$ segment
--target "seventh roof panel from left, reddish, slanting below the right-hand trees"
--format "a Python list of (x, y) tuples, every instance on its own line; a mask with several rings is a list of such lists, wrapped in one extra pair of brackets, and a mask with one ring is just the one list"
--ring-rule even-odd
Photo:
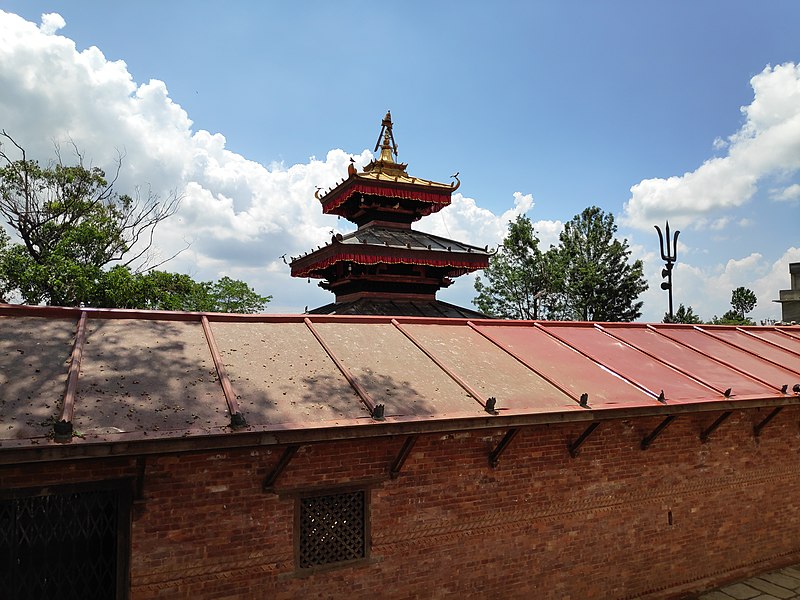
[(595, 327), (547, 325), (545, 329), (566, 340), (610, 371), (648, 389), (652, 394), (658, 395), (664, 390), (667, 401), (694, 400), (718, 395), (714, 390)]

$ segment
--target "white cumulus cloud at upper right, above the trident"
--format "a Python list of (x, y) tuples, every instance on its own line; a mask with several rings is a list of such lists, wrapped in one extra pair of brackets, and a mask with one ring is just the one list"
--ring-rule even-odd
[(744, 124), (727, 140), (714, 141), (727, 153), (683, 175), (634, 185), (624, 224), (649, 229), (669, 218), (679, 227), (713, 226), (719, 221), (711, 215), (747, 203), (760, 182), (800, 171), (800, 65), (768, 66), (750, 84), (754, 97), (741, 108)]

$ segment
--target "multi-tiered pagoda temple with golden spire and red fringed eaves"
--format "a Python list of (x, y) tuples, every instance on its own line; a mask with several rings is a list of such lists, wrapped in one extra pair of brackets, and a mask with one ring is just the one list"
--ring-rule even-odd
[(398, 163), (389, 112), (375, 145), (380, 157), (358, 172), (350, 159), (348, 176), (315, 196), (325, 214), (358, 226), (336, 234), (325, 246), (293, 258), (293, 277), (321, 279), (320, 287), (336, 301), (309, 311), (315, 314), (373, 314), (428, 317), (484, 317), (481, 313), (436, 299), (453, 278), (489, 264), (488, 248), (415, 231), (411, 224), (450, 204), (458, 189), (451, 184), (410, 176)]

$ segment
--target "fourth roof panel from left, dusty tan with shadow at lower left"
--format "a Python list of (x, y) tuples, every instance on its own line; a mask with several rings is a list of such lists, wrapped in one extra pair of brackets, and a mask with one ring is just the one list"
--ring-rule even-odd
[(481, 405), (389, 323), (315, 323), (386, 416), (479, 414)]

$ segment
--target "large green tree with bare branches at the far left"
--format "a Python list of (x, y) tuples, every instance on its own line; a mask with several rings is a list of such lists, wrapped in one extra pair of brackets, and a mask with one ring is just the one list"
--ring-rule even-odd
[(89, 303), (104, 268), (146, 261), (155, 227), (178, 208), (175, 194), (163, 202), (119, 194), (121, 157), (108, 180), (103, 170), (84, 167), (77, 148), (76, 165), (65, 165), (57, 148), (56, 159), (41, 166), (5, 131), (0, 137), (21, 157), (0, 145), (0, 216), (20, 239), (5, 245), (0, 279), (29, 304)]

